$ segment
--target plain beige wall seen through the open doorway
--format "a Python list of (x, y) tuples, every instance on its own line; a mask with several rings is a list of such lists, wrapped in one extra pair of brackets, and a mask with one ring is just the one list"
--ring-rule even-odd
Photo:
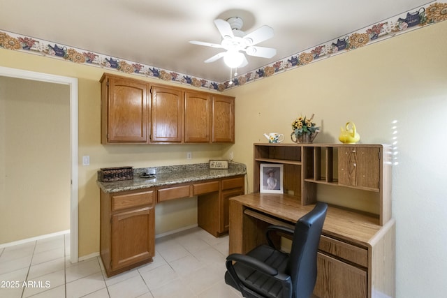
[(10, 77), (0, 87), (0, 244), (69, 230), (68, 87)]

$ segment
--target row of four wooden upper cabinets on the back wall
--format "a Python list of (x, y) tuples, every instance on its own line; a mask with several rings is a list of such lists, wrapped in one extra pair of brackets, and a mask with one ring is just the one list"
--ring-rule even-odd
[(104, 73), (101, 144), (234, 143), (235, 98)]

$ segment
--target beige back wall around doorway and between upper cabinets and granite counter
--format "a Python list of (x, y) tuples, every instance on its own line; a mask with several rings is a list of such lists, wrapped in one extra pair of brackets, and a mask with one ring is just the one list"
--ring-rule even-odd
[[(101, 89), (99, 79), (102, 68), (83, 66), (56, 59), (0, 49), (0, 66), (32, 70), (41, 73), (78, 78), (78, 129), (79, 129), (79, 256), (99, 251), (99, 190), (96, 172), (101, 167), (131, 165), (152, 167), (185, 163), (206, 163), (210, 158), (221, 158), (228, 145), (101, 145)], [(140, 77), (142, 80), (148, 80)], [(149, 80), (150, 81), (150, 80)], [(159, 83), (159, 80), (152, 80)], [(177, 84), (175, 84), (177, 86)], [(17, 116), (17, 117), (20, 117)], [(58, 142), (52, 146), (59, 146)], [(186, 160), (191, 151), (193, 159)], [(90, 165), (82, 165), (82, 156), (90, 156)], [(197, 223), (197, 200), (189, 198), (159, 204), (156, 207), (156, 234), (176, 230)], [(20, 209), (10, 208), (11, 214)], [(68, 214), (67, 220), (69, 218)], [(27, 223), (23, 223), (27, 227)], [(1, 230), (1, 228), (0, 228)], [(36, 231), (32, 236), (45, 234)]]

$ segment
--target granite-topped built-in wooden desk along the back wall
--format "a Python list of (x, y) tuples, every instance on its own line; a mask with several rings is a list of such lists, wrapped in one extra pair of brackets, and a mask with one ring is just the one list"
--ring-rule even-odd
[[(156, 204), (197, 196), (198, 225), (214, 236), (228, 232), (228, 201), (244, 194), (245, 165), (228, 170), (207, 164), (135, 169), (126, 181), (98, 181), (101, 195), (101, 259), (108, 276), (151, 262)], [(140, 178), (155, 173), (155, 179)]]

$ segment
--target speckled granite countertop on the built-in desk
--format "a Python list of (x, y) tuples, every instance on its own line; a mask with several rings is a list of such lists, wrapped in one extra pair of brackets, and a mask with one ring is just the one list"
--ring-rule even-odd
[[(155, 174), (155, 178), (141, 178), (140, 174), (142, 173)], [(228, 170), (210, 170), (208, 163), (196, 163), (192, 165), (135, 168), (133, 169), (132, 180), (102, 182), (98, 179), (96, 184), (105, 193), (117, 193), (119, 191), (133, 191), (141, 188), (218, 179), (242, 174), (247, 174), (247, 167), (242, 163), (229, 162)]]

